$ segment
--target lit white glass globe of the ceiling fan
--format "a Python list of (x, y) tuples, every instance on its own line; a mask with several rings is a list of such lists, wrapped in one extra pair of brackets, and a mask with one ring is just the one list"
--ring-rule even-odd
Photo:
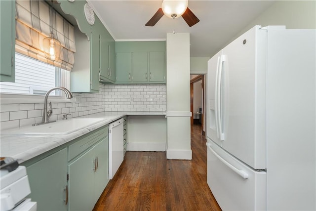
[(188, 0), (163, 0), (161, 8), (169, 18), (180, 17), (188, 7)]

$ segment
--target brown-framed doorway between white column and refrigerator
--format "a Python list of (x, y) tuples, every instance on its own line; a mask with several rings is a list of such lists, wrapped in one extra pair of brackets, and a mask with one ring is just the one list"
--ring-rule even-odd
[(190, 99), (191, 99), (191, 127), (193, 125), (202, 126), (202, 135), (205, 136), (204, 127), (204, 75), (191, 75), (190, 80)]

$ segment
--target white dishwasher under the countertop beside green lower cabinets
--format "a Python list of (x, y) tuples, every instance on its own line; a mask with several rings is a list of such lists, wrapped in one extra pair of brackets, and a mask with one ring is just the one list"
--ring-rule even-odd
[(123, 122), (109, 124), (109, 179), (112, 179), (124, 159)]

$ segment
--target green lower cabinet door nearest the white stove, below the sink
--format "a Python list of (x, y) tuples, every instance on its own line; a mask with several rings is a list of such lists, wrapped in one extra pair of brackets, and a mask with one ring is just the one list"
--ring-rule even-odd
[(67, 148), (27, 167), (29, 197), (39, 211), (66, 211)]

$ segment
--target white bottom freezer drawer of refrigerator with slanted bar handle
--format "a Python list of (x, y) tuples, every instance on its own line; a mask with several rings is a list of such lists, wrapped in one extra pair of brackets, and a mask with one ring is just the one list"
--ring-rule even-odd
[(266, 172), (255, 171), (214, 142), (207, 145), (207, 184), (223, 211), (266, 210)]

